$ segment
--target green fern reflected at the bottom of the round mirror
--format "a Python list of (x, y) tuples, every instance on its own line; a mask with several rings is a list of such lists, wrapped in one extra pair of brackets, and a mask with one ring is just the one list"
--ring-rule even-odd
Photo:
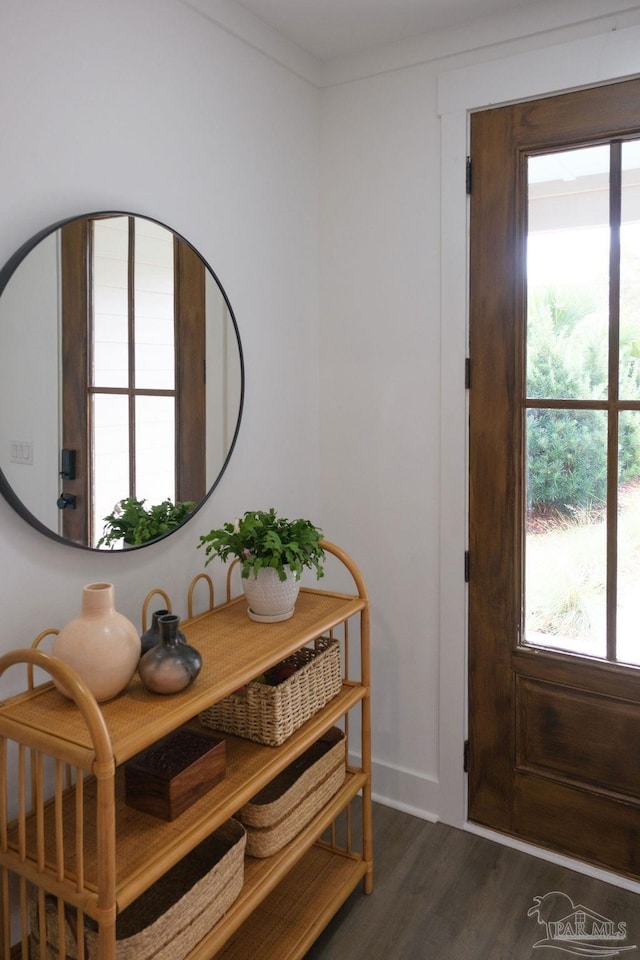
[(113, 512), (104, 518), (98, 546), (113, 549), (113, 545), (122, 540), (125, 546), (133, 547), (156, 540), (179, 527), (196, 506), (193, 500), (181, 503), (163, 500), (151, 507), (145, 507), (146, 502), (135, 497), (119, 500)]

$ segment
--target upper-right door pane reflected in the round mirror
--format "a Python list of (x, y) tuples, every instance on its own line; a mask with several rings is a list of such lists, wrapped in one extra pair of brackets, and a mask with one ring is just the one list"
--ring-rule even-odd
[(173, 390), (173, 234), (137, 219), (135, 250), (136, 388)]

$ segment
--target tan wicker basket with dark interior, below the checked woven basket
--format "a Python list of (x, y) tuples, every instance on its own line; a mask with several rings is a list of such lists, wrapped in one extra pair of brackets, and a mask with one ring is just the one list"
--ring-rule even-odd
[(270, 857), (292, 840), (336, 793), (346, 774), (345, 736), (332, 727), (242, 807), (246, 852)]

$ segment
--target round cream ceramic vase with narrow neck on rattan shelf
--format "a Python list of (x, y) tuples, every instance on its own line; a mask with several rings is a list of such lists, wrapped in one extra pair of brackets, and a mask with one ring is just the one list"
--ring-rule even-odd
[(116, 610), (112, 583), (83, 587), (81, 612), (56, 636), (52, 652), (73, 667), (96, 700), (109, 700), (124, 690), (140, 660), (140, 636)]

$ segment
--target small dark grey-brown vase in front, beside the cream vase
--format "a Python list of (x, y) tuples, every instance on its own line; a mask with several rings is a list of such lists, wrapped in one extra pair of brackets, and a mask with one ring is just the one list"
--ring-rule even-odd
[(153, 693), (179, 693), (195, 680), (202, 667), (198, 651), (178, 639), (180, 617), (165, 613), (158, 617), (160, 642), (140, 658), (138, 675)]

